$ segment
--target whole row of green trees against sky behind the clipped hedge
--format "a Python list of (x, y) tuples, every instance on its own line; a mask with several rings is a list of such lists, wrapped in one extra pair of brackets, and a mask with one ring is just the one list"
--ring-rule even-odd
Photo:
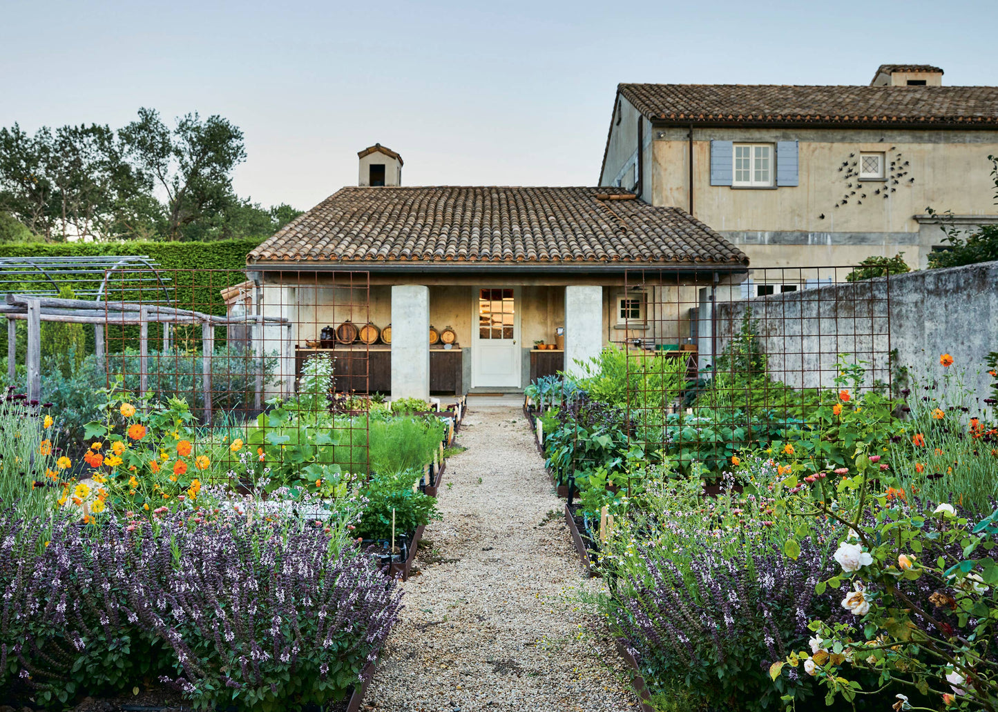
[(146, 108), (117, 131), (0, 128), (0, 238), (24, 234), (16, 223), (47, 241), (265, 237), (300, 211), (237, 195), (246, 158), (239, 127), (197, 113), (173, 128)]

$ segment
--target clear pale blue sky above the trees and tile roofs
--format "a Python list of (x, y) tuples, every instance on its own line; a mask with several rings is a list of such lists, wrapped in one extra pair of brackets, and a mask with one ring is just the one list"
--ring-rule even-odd
[(592, 185), (618, 83), (864, 85), (918, 63), (996, 85), (996, 26), (994, 0), (4, 0), (0, 126), (218, 114), (264, 206), (356, 184), (375, 142), (408, 185)]

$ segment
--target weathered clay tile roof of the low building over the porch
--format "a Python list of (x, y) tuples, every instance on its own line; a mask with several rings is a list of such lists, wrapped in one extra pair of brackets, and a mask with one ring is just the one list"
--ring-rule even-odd
[(252, 250), (248, 263), (744, 265), (678, 207), (616, 187), (344, 187)]

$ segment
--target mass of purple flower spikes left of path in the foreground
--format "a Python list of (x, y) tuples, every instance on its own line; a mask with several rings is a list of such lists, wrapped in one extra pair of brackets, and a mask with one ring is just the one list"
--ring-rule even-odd
[(194, 519), (0, 513), (0, 697), (55, 706), (150, 677), (199, 709), (348, 694), (397, 619), (395, 582), (323, 523)]

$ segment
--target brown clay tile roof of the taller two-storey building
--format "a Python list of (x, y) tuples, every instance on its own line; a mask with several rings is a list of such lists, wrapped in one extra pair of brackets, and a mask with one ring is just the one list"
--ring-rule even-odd
[(998, 87), (621, 84), (647, 119), (683, 124), (998, 126)]

